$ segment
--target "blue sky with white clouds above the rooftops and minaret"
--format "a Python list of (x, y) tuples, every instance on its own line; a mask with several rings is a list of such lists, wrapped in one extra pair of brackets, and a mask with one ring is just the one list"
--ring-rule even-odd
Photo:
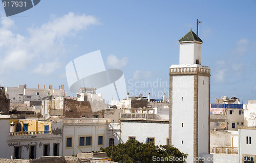
[[(10, 17), (0, 7), (0, 83), (64, 84), (72, 96), (66, 65), (100, 50), (107, 69), (123, 71), (130, 95), (156, 91), (152, 98), (161, 98), (168, 87), (160, 82), (168, 83), (169, 67), (179, 63), (178, 40), (190, 28), (196, 32), (199, 18), (202, 64), (211, 68), (211, 102), (224, 95), (256, 99), (255, 7), (256, 1), (42, 0)], [(143, 87), (146, 82), (159, 85)]]

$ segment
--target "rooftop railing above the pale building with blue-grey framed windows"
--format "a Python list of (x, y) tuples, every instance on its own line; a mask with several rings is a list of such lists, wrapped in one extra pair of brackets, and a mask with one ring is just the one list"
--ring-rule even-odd
[(65, 119), (64, 125), (102, 125), (105, 119)]

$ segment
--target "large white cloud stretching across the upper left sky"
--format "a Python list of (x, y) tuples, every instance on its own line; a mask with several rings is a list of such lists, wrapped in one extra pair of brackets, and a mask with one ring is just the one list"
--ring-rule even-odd
[(34, 62), (38, 64), (31, 72), (50, 74), (59, 68), (60, 60), (55, 60), (52, 63), (47, 61), (49, 58), (63, 56), (65, 37), (74, 36), (75, 32), (85, 30), (89, 25), (99, 24), (99, 22), (93, 16), (75, 15), (70, 12), (62, 17), (55, 17), (41, 26), (28, 28), (27, 36), (15, 34), (10, 30), (14, 26), (14, 21), (9, 17), (2, 17), (1, 24), (0, 50), (2, 56), (0, 60), (2, 60), (2, 70), (0, 73), (24, 70)]

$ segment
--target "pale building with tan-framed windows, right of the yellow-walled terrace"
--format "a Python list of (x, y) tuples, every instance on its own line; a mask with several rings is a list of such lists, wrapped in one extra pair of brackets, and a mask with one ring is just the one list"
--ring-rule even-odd
[[(110, 121), (110, 120), (109, 120)], [(78, 152), (100, 151), (100, 147), (109, 147), (114, 137), (119, 144), (120, 125), (103, 118), (66, 118), (63, 119), (63, 155), (76, 155)]]

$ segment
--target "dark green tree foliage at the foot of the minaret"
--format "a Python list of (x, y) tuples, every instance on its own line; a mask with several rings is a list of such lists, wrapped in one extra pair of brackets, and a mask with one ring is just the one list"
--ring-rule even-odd
[[(100, 148), (102, 152), (106, 152), (111, 157), (112, 147)], [(154, 161), (154, 157), (165, 158), (165, 161)], [(125, 144), (118, 144), (113, 147), (112, 160), (116, 162), (135, 163), (135, 162), (184, 162), (170, 161), (169, 158), (186, 158), (187, 154), (180, 152), (177, 148), (169, 145), (155, 146), (152, 142), (140, 143), (139, 141), (130, 139)]]

